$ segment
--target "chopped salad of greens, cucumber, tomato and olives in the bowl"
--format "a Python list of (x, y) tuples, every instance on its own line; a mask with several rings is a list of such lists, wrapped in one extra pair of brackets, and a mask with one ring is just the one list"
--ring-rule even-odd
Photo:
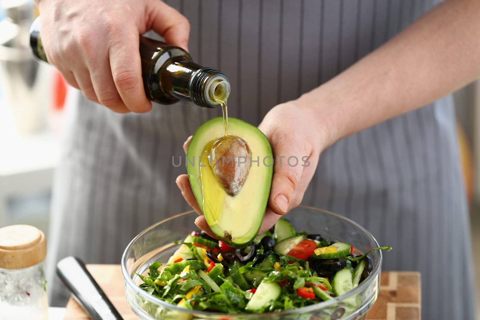
[[(140, 288), (181, 308), (222, 313), (283, 311), (340, 296), (368, 277), (370, 251), (391, 249), (355, 256), (350, 244), (297, 233), (285, 219), (245, 249), (203, 231), (176, 243), (166, 266), (154, 262), (148, 276), (138, 274)], [(360, 303), (357, 296), (351, 308)]]

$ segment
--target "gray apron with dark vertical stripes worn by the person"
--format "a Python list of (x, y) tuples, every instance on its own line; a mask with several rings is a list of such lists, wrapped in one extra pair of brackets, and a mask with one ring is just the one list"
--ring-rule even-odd
[[(192, 25), (194, 60), (231, 81), (229, 116), (258, 125), (276, 104), (326, 82), (382, 45), (432, 0), (168, 0)], [(220, 115), (178, 103), (114, 114), (70, 96), (49, 248), (51, 301), (68, 297), (56, 261), (120, 263), (148, 225), (188, 209), (171, 156)], [(336, 142), (303, 203), (345, 215), (394, 251), (384, 270), (422, 273), (423, 319), (474, 319), (468, 208), (451, 96)], [(53, 285), (52, 285), (53, 283)]]

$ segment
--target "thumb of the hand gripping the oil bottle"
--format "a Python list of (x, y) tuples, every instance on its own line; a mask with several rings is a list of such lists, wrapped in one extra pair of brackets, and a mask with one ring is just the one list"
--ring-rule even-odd
[(163, 1), (150, 0), (147, 8), (150, 27), (162, 36), (166, 43), (188, 51), (188, 19)]

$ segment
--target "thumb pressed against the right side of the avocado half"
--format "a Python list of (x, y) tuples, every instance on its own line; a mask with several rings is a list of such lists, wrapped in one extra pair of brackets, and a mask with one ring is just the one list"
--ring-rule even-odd
[(297, 145), (286, 142), (272, 143), (275, 156), (272, 188), (268, 206), (276, 214), (285, 214), (297, 206), (294, 192), (303, 171), (302, 155)]

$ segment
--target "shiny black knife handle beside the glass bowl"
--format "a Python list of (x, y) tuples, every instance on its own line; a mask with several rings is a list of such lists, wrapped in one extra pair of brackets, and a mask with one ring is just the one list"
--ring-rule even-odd
[(93, 320), (123, 319), (80, 259), (63, 258), (57, 263), (57, 274)]

